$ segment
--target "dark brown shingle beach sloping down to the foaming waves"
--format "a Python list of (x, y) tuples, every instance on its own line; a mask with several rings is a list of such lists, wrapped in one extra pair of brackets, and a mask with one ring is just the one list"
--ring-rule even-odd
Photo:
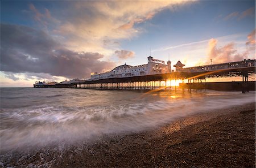
[(154, 130), (101, 137), (90, 145), (70, 147), (61, 154), (49, 152), (44, 161), (40, 154), (42, 151), (32, 157), (14, 157), (9, 164), (18, 167), (30, 167), (35, 162), (42, 167), (255, 167), (255, 104), (205, 111)]

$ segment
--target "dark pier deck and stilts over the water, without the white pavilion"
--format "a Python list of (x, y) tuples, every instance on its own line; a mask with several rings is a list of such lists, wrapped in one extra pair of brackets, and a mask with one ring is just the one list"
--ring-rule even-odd
[[(234, 65), (234, 66), (232, 66)], [(109, 77), (97, 80), (75, 81), (72, 83), (57, 83), (54, 85), (34, 84), (35, 88), (85, 88), (85, 89), (167, 89), (170, 80), (181, 80), (180, 87), (186, 89), (215, 89), (224, 91), (255, 91), (255, 81), (249, 77), (255, 75), (255, 59), (242, 62), (213, 64), (210, 66), (197, 66), (180, 68), (176, 72)], [(242, 77), (241, 82), (214, 82), (207, 83), (209, 78)], [(187, 83), (185, 83), (187, 81)], [(225, 87), (224, 87), (225, 85)]]

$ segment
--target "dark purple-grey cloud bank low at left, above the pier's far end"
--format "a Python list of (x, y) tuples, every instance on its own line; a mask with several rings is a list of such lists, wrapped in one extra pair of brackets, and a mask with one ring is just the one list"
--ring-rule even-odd
[[(103, 57), (99, 53), (68, 50), (43, 31), (1, 24), (1, 71), (89, 77), (90, 72), (115, 66), (113, 62), (100, 61)], [(9, 77), (15, 80), (15, 76)]]

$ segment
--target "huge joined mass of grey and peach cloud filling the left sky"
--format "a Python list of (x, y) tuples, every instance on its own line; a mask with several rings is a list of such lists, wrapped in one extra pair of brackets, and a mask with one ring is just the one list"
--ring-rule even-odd
[[(33, 79), (36, 76), (32, 73), (75, 78), (109, 70), (115, 66), (109, 61), (110, 55), (122, 51), (120, 41), (143, 32), (137, 24), (152, 19), (165, 8), (171, 9), (185, 2), (138, 1), (136, 5), (131, 1), (67, 3), (68, 7), (58, 12), (61, 15), (53, 15), (49, 9), (39, 8), (36, 3), (28, 5), (29, 11), (26, 12), (32, 14), (43, 31), (1, 24), (1, 71), (13, 73), (14, 77), (23, 74), (25, 79)], [(118, 55), (121, 58), (133, 57), (134, 53), (128, 52)]]

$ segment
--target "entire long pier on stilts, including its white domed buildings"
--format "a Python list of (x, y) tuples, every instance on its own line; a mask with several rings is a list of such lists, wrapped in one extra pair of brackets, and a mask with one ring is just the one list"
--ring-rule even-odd
[[(87, 80), (71, 80), (48, 85), (37, 81), (35, 88), (88, 88), (88, 89), (167, 89), (167, 81), (181, 80), (180, 87), (187, 89), (215, 89), (226, 91), (255, 91), (255, 81), (249, 77), (255, 76), (255, 59), (244, 59), (238, 62), (209, 64), (204, 66), (187, 67), (178, 61), (171, 69), (171, 61), (147, 57), (148, 63), (130, 66), (126, 63), (115, 67), (112, 71), (91, 74)], [(206, 79), (213, 77), (241, 76), (240, 82), (207, 83)], [(185, 83), (185, 81), (187, 81)], [(203, 82), (202, 82), (203, 81)], [(224, 87), (225, 86), (225, 87)]]

